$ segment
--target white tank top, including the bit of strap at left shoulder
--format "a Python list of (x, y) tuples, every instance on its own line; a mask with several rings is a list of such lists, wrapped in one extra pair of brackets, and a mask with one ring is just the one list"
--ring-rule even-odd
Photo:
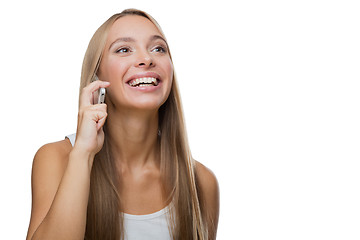
[[(74, 146), (75, 134), (67, 135)], [(173, 210), (170, 204), (164, 209), (146, 215), (132, 215), (124, 213), (125, 240), (171, 240), (167, 213)]]

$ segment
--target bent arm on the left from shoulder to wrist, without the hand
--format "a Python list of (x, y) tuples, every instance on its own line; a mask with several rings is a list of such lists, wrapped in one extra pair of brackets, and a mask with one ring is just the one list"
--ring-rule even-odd
[(65, 142), (36, 153), (27, 239), (84, 239), (90, 186), (88, 157), (66, 153)]

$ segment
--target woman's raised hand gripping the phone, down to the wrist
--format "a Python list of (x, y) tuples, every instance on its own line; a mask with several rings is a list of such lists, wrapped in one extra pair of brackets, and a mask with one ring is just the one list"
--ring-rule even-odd
[(92, 160), (104, 144), (102, 127), (107, 117), (107, 105), (93, 104), (93, 95), (99, 88), (106, 88), (109, 85), (109, 82), (94, 81), (84, 87), (80, 94), (74, 149), (89, 154)]

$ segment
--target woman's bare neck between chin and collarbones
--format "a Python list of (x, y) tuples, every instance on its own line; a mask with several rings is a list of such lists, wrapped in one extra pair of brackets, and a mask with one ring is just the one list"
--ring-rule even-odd
[(110, 111), (107, 134), (116, 162), (122, 168), (157, 165), (157, 111)]

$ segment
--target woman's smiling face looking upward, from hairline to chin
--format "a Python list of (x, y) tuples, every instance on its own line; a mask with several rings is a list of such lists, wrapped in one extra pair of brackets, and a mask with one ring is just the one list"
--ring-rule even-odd
[(158, 109), (170, 93), (173, 65), (168, 46), (145, 17), (124, 16), (109, 30), (98, 76), (111, 83), (116, 108)]

